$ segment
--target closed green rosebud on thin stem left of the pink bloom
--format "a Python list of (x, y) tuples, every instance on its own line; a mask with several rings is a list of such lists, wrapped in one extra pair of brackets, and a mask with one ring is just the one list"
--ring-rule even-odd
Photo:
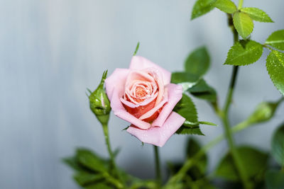
[(102, 80), (97, 89), (89, 95), (89, 108), (96, 115), (102, 125), (107, 125), (111, 106), (107, 93), (104, 91), (104, 80), (107, 78), (107, 71), (104, 71)]

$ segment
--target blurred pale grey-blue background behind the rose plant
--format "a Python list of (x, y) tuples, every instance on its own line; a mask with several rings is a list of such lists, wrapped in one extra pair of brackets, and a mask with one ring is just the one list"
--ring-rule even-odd
[[(236, 2), (236, 1), (235, 1)], [(236, 2), (237, 3), (237, 2)], [(99, 122), (88, 107), (86, 88), (97, 87), (102, 72), (129, 66), (138, 55), (170, 71), (182, 70), (187, 54), (206, 45), (212, 66), (205, 79), (223, 105), (231, 67), (222, 65), (233, 39), (226, 15), (215, 9), (190, 21), (192, 0), (1, 0), (0, 1), (0, 188), (78, 188), (60, 159), (75, 147), (107, 156)], [(284, 1), (245, 0), (266, 11), (275, 23), (256, 23), (252, 39), (264, 42), (283, 29)], [(277, 100), (265, 67), (268, 54), (241, 67), (231, 107), (231, 123), (244, 120), (261, 101)], [(207, 103), (194, 99), (200, 120), (216, 122)], [(238, 144), (269, 150), (271, 134), (283, 122), (284, 106), (268, 123), (236, 134)], [(111, 115), (113, 149), (119, 166), (153, 178), (153, 147), (123, 131), (127, 122)], [(202, 144), (222, 132), (202, 125)], [(186, 136), (173, 136), (160, 149), (166, 161), (182, 161)], [(209, 169), (226, 151), (226, 142), (209, 151)]]

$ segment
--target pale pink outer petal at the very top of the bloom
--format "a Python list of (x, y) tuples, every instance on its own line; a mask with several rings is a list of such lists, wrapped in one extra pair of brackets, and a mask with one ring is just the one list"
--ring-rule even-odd
[(170, 84), (170, 71), (167, 71), (163, 69), (162, 67), (159, 67), (157, 64), (151, 62), (150, 60), (144, 58), (144, 57), (139, 57), (139, 56), (133, 56), (131, 59), (131, 63), (129, 66), (129, 69), (148, 69), (148, 68), (155, 68), (158, 69), (158, 71), (161, 72), (163, 75), (163, 81), (164, 84)]

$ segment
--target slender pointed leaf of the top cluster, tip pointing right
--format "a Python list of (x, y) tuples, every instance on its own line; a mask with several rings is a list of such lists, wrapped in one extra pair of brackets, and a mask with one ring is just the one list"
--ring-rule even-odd
[(273, 23), (273, 21), (268, 16), (268, 14), (259, 8), (254, 8), (254, 7), (241, 8), (241, 12), (249, 14), (249, 16), (254, 21), (263, 22), (263, 23)]

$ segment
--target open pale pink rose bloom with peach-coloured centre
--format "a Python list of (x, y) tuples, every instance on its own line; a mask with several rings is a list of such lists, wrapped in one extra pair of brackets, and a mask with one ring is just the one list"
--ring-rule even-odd
[(133, 56), (129, 69), (115, 69), (106, 81), (114, 115), (131, 123), (127, 132), (163, 147), (185, 122), (173, 108), (182, 86), (170, 84), (171, 73), (144, 57)]

